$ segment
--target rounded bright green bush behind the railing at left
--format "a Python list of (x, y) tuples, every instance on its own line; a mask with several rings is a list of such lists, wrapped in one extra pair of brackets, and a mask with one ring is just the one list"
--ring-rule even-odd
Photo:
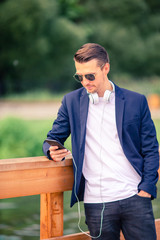
[(1, 121), (1, 159), (42, 155), (42, 142), (27, 122), (16, 118)]

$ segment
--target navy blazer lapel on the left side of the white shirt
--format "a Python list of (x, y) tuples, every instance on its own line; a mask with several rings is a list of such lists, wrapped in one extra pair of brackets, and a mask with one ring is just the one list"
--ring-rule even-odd
[(88, 116), (88, 106), (89, 106), (89, 98), (86, 90), (82, 92), (82, 95), (80, 97), (80, 149), (84, 149), (84, 140), (86, 135), (86, 122), (87, 122), (87, 116)]

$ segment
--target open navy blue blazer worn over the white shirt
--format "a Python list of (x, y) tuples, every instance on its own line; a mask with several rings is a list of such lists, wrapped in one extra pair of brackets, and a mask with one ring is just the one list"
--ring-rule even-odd
[[(57, 119), (47, 135), (47, 138), (56, 139), (64, 144), (71, 134), (72, 155), (77, 165), (76, 194), (80, 201), (83, 200), (85, 186), (82, 166), (88, 106), (88, 94), (83, 87), (65, 95)], [(115, 108), (118, 136), (122, 149), (141, 176), (138, 191), (144, 190), (150, 193), (153, 199), (157, 192), (159, 152), (156, 131), (147, 100), (144, 95), (115, 85)], [(49, 157), (48, 149), (49, 144), (44, 142), (43, 151)], [(73, 186), (71, 206), (77, 201), (74, 191)]]

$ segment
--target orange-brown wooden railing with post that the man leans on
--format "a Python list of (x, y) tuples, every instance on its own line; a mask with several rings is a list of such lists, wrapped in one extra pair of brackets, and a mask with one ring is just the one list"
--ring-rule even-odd
[[(83, 233), (63, 236), (63, 192), (72, 189), (72, 159), (46, 157), (0, 160), (0, 199), (40, 194), (40, 239), (89, 240)], [(160, 240), (160, 220), (156, 220)], [(121, 240), (124, 237), (121, 234)]]

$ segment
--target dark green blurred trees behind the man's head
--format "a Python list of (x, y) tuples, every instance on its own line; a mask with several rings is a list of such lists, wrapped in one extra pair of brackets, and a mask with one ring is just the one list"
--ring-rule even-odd
[(160, 1), (0, 1), (0, 94), (79, 87), (73, 55), (86, 42), (109, 52), (111, 74), (160, 76)]

